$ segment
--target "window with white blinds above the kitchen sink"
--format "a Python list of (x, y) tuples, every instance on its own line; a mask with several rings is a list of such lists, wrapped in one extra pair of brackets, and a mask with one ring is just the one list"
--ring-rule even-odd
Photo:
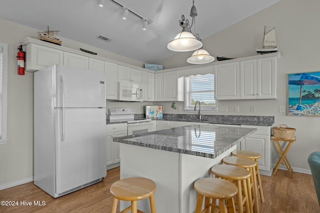
[(184, 110), (194, 110), (195, 102), (199, 101), (201, 110), (216, 111), (213, 74), (186, 77), (184, 85)]

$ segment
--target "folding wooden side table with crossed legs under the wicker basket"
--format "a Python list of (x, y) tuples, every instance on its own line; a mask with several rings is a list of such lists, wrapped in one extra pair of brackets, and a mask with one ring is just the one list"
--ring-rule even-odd
[[(283, 161), (284, 165), (286, 166), (288, 172), (289, 172), (289, 177), (293, 178), (293, 170), (291, 168), (291, 165), (289, 164), (288, 159), (285, 157), (286, 153), (288, 152), (288, 150), (290, 149), (290, 146), (292, 145), (292, 142), (295, 141), (295, 136), (293, 138), (290, 139), (284, 139), (284, 138), (275, 138), (273, 136), (271, 136), (271, 139), (273, 140), (276, 149), (279, 151), (280, 154), (280, 159), (278, 160), (278, 162), (276, 163), (273, 173), (272, 175), (274, 175), (276, 173), (276, 171), (278, 170), (281, 162)], [(282, 149), (282, 147), (280, 146), (279, 141), (283, 141), (284, 143), (288, 142), (284, 151)]]

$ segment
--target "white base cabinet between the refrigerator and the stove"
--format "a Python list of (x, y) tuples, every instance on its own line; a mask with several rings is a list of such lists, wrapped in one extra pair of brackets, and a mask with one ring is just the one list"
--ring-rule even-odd
[(116, 167), (120, 162), (120, 144), (112, 139), (127, 135), (127, 124), (107, 124), (106, 125), (106, 166), (108, 169)]

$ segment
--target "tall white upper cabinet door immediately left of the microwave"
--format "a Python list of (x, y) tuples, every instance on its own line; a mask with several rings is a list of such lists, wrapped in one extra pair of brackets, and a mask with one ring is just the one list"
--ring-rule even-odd
[(118, 99), (118, 65), (104, 61), (106, 99)]

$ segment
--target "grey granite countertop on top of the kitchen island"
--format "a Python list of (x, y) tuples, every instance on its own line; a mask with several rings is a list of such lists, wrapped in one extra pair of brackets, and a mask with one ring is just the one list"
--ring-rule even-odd
[(190, 125), (113, 138), (113, 141), (205, 158), (216, 158), (254, 131), (256, 131), (255, 128)]

